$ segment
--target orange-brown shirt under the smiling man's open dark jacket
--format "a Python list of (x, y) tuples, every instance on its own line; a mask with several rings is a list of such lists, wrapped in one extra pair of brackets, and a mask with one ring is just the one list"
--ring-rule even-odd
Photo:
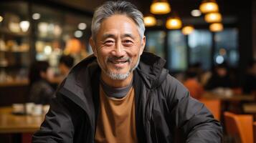
[(138, 142), (133, 87), (128, 94), (116, 99), (108, 97), (100, 86), (100, 110), (95, 142)]

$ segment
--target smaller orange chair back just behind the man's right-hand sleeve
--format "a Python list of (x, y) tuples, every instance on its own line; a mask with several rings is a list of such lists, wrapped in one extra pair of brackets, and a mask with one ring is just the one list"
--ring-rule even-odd
[(199, 99), (199, 101), (212, 112), (215, 119), (220, 121), (221, 101), (219, 99)]

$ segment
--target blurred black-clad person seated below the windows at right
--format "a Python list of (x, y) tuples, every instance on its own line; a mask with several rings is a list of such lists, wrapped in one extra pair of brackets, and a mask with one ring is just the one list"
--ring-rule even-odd
[(229, 77), (228, 67), (226, 63), (218, 64), (214, 67), (212, 76), (207, 81), (204, 89), (212, 90), (217, 88), (231, 88), (232, 80)]

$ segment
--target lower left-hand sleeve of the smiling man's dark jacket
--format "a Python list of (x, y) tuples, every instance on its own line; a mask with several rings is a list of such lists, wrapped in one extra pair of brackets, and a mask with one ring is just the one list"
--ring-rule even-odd
[(61, 96), (52, 99), (49, 112), (46, 114), (44, 122), (39, 131), (33, 137), (33, 143), (53, 143), (73, 142), (74, 128), (70, 111), (67, 109), (67, 104)]

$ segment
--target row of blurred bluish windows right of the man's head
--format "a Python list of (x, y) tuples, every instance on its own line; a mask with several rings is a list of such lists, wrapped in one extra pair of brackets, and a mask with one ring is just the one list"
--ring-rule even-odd
[(188, 36), (180, 30), (168, 31), (167, 35), (165, 31), (146, 33), (146, 50), (166, 58), (167, 68), (174, 72), (185, 71), (188, 64), (196, 63), (200, 63), (204, 70), (224, 61), (235, 67), (239, 61), (237, 42), (238, 31), (234, 28), (217, 33), (208, 29), (195, 29)]

